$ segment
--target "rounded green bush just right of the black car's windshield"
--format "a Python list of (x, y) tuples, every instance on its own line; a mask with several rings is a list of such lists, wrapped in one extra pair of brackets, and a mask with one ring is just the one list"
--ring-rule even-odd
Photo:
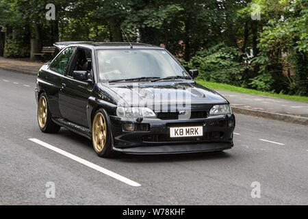
[(220, 43), (209, 49), (198, 51), (190, 62), (184, 65), (190, 69), (198, 68), (199, 79), (241, 86), (242, 71), (246, 69), (246, 66), (238, 62), (240, 55), (238, 49)]

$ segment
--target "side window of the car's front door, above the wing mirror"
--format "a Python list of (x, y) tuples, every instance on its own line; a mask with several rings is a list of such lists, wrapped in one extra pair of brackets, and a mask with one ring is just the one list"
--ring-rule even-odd
[[(73, 70), (86, 70), (88, 72), (88, 79), (93, 80), (92, 51), (90, 49), (77, 49)], [(73, 71), (68, 73), (68, 75), (73, 76)]]

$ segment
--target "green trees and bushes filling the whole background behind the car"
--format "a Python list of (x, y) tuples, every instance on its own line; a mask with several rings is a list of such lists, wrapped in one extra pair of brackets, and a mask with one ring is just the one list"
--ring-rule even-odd
[[(45, 18), (47, 3), (55, 21)], [(251, 18), (254, 4), (260, 21)], [(131, 41), (164, 44), (203, 79), (301, 95), (308, 94), (307, 13), (307, 0), (0, 0), (7, 56), (28, 55), (31, 38), (40, 46), (125, 41), (122, 27)]]

